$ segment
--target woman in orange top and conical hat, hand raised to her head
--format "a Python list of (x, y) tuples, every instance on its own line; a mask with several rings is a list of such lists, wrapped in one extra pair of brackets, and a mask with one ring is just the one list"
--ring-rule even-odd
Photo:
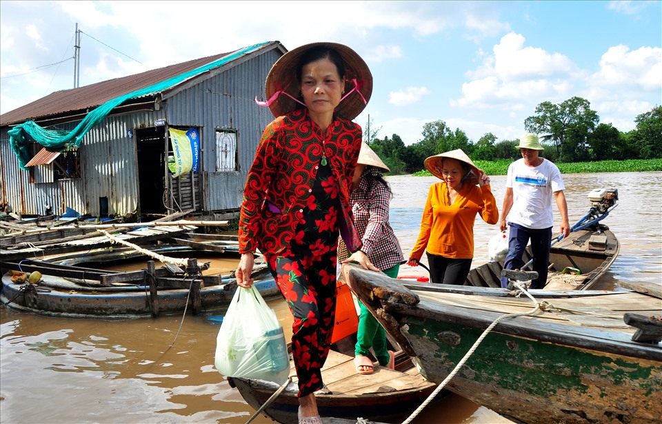
[(443, 182), (430, 187), (408, 265), (417, 266), (426, 252), (432, 283), (463, 284), (474, 257), (476, 215), (488, 224), (499, 221), (490, 178), (461, 149), (428, 157), (425, 168)]

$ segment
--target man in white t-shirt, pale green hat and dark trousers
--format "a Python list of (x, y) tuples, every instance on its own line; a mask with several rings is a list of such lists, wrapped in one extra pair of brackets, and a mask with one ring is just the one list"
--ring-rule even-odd
[[(519, 270), (524, 265), (522, 254), (531, 240), (533, 270), (538, 272), (538, 278), (531, 282), (529, 288), (541, 289), (547, 284), (550, 262), (554, 226), (552, 197), (561, 213), (561, 232), (564, 237), (570, 234), (568, 203), (565, 202), (565, 186), (559, 168), (538, 156), (540, 151), (544, 150), (538, 136), (524, 134), (517, 148), (522, 159), (514, 161), (508, 167), (499, 225), (501, 231), (510, 227), (508, 256), (505, 257), (503, 267), (507, 270)], [(501, 277), (501, 287), (508, 287), (506, 277)]]

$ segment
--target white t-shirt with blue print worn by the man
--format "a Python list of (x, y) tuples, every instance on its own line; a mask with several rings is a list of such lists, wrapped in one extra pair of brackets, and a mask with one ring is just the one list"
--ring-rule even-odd
[(508, 166), (506, 187), (512, 188), (512, 208), (508, 222), (541, 230), (554, 225), (554, 192), (565, 190), (559, 168), (543, 159), (538, 166), (527, 166), (524, 159)]

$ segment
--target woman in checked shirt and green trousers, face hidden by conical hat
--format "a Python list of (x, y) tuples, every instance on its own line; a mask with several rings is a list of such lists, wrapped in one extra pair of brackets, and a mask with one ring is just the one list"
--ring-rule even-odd
[[(366, 143), (361, 143), (359, 163), (354, 170), (350, 203), (354, 223), (361, 235), (361, 250), (350, 255), (344, 243), (339, 242), (338, 260), (341, 263), (357, 262), (364, 268), (381, 270), (396, 278), (404, 261), (400, 243), (388, 220), (391, 188), (383, 178), (388, 166)], [(368, 357), (372, 347), (379, 365), (394, 367), (394, 354), (388, 351), (386, 332), (363, 303), (359, 302), (359, 330), (354, 346), (354, 367), (359, 374), (372, 374), (374, 364)]]

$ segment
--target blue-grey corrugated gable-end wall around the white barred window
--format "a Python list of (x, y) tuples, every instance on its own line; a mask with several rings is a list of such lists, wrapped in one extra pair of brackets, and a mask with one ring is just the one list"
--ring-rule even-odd
[[(200, 128), (203, 181), (208, 182), (202, 201), (207, 211), (241, 206), (255, 150), (265, 126), (274, 119), (269, 108), (255, 103), (255, 97), (264, 99), (264, 81), (279, 57), (279, 50), (269, 50), (167, 100), (170, 125)], [(216, 172), (216, 128), (238, 130), (239, 171)]]

